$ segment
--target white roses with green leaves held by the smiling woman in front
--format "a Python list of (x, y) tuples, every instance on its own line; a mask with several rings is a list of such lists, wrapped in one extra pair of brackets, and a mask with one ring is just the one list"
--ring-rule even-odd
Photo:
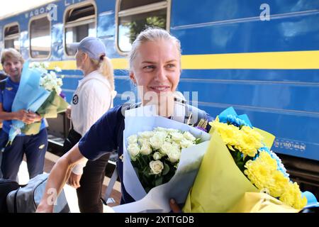
[(156, 127), (128, 137), (128, 153), (145, 192), (169, 182), (174, 176), (181, 150), (201, 142), (188, 131)]

